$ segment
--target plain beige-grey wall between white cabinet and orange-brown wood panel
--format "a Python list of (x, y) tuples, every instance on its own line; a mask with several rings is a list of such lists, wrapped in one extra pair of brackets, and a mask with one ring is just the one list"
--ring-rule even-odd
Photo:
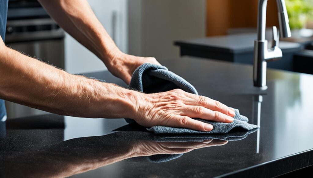
[(173, 41), (205, 36), (205, 0), (129, 0), (132, 55), (177, 58)]

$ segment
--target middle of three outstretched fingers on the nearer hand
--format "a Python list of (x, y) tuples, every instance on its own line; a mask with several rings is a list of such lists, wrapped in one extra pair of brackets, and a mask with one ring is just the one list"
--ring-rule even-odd
[(211, 120), (215, 122), (231, 123), (234, 118), (220, 113), (218, 111), (212, 111), (211, 109), (203, 106), (185, 106), (182, 108), (182, 116), (188, 116), (190, 118), (201, 118), (205, 120)]

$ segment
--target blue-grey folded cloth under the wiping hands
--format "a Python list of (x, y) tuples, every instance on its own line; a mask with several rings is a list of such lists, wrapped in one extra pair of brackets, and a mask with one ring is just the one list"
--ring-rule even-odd
[[(146, 63), (139, 66), (133, 73), (129, 89), (137, 90), (143, 93), (158, 93), (165, 92), (172, 89), (182, 89), (186, 92), (197, 94), (197, 90), (182, 77), (169, 71), (166, 67)], [(167, 126), (153, 126), (147, 128), (148, 131), (155, 134), (218, 134), (227, 133), (233, 128), (241, 128), (244, 130), (252, 130), (258, 126), (249, 124), (248, 118), (240, 115), (239, 110), (235, 109), (234, 121), (232, 123), (219, 123), (208, 120), (195, 118), (196, 120), (213, 125), (213, 130), (210, 132), (201, 132), (187, 128), (167, 127)], [(132, 123), (134, 120), (126, 119), (126, 122)]]

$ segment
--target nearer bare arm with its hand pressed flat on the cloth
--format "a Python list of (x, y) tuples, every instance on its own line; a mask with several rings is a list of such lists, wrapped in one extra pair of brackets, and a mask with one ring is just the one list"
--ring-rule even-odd
[(61, 115), (132, 118), (163, 125), (211, 131), (202, 118), (230, 123), (235, 113), (222, 103), (180, 89), (143, 94), (115, 84), (71, 75), (6, 47), (0, 38), (0, 98)]

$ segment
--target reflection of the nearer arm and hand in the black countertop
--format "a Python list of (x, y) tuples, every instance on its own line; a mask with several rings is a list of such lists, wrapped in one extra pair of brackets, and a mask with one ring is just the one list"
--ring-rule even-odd
[[(228, 141), (156, 142), (146, 132), (115, 132), (82, 137), (53, 145), (33, 145), (28, 151), (4, 155), (5, 177), (68, 177), (137, 156), (181, 154), (224, 145)], [(18, 144), (18, 143), (14, 143)]]

